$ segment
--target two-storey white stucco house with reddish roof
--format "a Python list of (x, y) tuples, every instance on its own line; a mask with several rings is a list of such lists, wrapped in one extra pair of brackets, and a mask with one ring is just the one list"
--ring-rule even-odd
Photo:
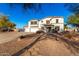
[(24, 27), (25, 32), (36, 32), (43, 30), (45, 32), (53, 31), (53, 29), (59, 32), (64, 31), (64, 18), (60, 16), (46, 17), (41, 20), (30, 20), (28, 25)]

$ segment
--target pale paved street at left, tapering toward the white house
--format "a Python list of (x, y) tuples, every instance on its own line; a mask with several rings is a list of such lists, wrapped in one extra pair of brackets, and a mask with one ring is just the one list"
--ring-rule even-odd
[(0, 44), (14, 40), (17, 37), (19, 37), (20, 35), (26, 35), (26, 34), (30, 34), (30, 33), (25, 33), (25, 32), (4, 32), (4, 33), (0, 33)]

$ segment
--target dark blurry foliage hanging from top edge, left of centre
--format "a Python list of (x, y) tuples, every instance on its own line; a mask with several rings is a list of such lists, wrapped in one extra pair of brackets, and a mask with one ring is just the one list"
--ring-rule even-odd
[(38, 12), (41, 10), (41, 4), (40, 3), (9, 3), (8, 4), (10, 8), (15, 8), (17, 5), (22, 7), (22, 11), (27, 12), (28, 9), (34, 10), (35, 12)]

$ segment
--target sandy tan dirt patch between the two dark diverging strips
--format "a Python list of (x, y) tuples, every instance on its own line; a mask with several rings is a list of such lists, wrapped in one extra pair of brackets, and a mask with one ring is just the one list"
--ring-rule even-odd
[(38, 41), (32, 48), (26, 50), (22, 56), (72, 56), (75, 55), (67, 44), (46, 38)]

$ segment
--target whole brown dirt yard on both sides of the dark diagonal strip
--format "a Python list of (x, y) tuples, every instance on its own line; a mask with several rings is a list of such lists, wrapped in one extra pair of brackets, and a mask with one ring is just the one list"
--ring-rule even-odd
[[(37, 37), (36, 34), (32, 36)], [(0, 55), (20, 55), (20, 56), (78, 56), (79, 53), (71, 48), (67, 43), (52, 36), (42, 36), (40, 40), (28, 46), (33, 39), (27, 36), (22, 40), (11, 40), (0, 44)], [(27, 46), (29, 48), (27, 48)], [(23, 48), (27, 49), (23, 49)], [(22, 50), (22, 51), (21, 51)], [(20, 51), (20, 52), (19, 52)], [(19, 52), (19, 53), (18, 53)]]

